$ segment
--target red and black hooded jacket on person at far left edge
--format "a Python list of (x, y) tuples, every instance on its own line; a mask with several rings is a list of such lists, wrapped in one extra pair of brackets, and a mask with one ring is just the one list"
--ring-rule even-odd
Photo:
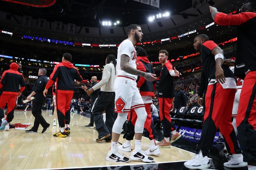
[[(13, 94), (18, 95), (19, 92), (24, 91), (26, 82), (23, 75), (18, 72), (19, 65), (17, 63), (12, 63), (10, 65), (10, 70), (5, 70), (2, 74), (0, 80), (0, 91), (2, 94)], [(19, 89), (19, 85), (21, 88)]]

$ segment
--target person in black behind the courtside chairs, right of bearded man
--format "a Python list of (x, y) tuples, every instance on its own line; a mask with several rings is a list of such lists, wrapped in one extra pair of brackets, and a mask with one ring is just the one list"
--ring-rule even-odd
[(185, 95), (184, 91), (180, 89), (179, 85), (175, 86), (175, 93), (174, 93), (174, 107), (175, 107), (175, 113), (177, 110), (182, 107), (187, 105), (187, 96)]

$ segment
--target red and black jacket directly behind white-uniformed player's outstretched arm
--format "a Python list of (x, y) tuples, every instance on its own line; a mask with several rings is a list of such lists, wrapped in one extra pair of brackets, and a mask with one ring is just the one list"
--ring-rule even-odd
[[(137, 70), (142, 72), (149, 72), (155, 74), (153, 65), (149, 62), (147, 56), (137, 56)], [(144, 77), (137, 78), (137, 87), (140, 88), (140, 95), (154, 97), (154, 90), (156, 88), (156, 81), (149, 82)]]

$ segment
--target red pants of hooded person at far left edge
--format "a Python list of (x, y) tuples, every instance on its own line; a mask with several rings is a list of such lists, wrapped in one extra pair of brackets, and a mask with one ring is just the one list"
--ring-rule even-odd
[(8, 122), (11, 122), (14, 118), (14, 107), (16, 104), (16, 99), (18, 95), (14, 94), (1, 94), (0, 95), (0, 119), (4, 117), (4, 108), (6, 103), (7, 104), (7, 118)]

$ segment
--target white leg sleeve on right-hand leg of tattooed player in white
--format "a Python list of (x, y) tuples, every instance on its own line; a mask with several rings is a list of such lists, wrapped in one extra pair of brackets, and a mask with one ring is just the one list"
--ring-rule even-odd
[(137, 120), (135, 122), (134, 131), (135, 131), (135, 133), (143, 133), (144, 123), (147, 119), (146, 109), (145, 109), (145, 107), (140, 107), (140, 108), (134, 109), (134, 111), (137, 114)]

